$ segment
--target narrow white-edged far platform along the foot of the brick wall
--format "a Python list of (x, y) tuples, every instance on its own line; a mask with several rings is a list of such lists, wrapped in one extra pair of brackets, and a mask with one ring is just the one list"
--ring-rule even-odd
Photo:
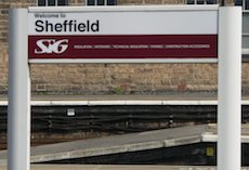
[[(217, 105), (217, 93), (172, 93), (167, 95), (34, 95), (34, 106), (67, 105)], [(249, 95), (241, 104), (249, 105)], [(0, 106), (8, 105), (8, 96), (0, 96)]]

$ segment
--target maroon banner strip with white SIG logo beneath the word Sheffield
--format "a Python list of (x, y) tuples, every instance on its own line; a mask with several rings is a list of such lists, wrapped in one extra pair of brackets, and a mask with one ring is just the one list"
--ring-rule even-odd
[(217, 58), (217, 35), (29, 36), (29, 58)]

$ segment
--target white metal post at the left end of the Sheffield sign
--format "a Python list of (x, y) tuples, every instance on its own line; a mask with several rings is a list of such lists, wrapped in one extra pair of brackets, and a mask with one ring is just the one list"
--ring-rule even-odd
[(27, 9), (12, 9), (9, 15), (8, 170), (29, 170), (30, 167), (27, 14)]

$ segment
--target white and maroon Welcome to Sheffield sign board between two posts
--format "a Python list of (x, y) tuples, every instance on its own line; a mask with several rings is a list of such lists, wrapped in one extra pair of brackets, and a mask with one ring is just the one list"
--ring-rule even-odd
[(29, 9), (29, 60), (218, 57), (218, 6)]

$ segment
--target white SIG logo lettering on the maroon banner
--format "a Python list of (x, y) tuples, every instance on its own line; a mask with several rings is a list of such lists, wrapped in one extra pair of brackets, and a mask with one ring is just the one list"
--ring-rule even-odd
[(61, 54), (68, 48), (68, 39), (41, 39), (37, 41), (38, 49), (35, 49), (35, 54)]

